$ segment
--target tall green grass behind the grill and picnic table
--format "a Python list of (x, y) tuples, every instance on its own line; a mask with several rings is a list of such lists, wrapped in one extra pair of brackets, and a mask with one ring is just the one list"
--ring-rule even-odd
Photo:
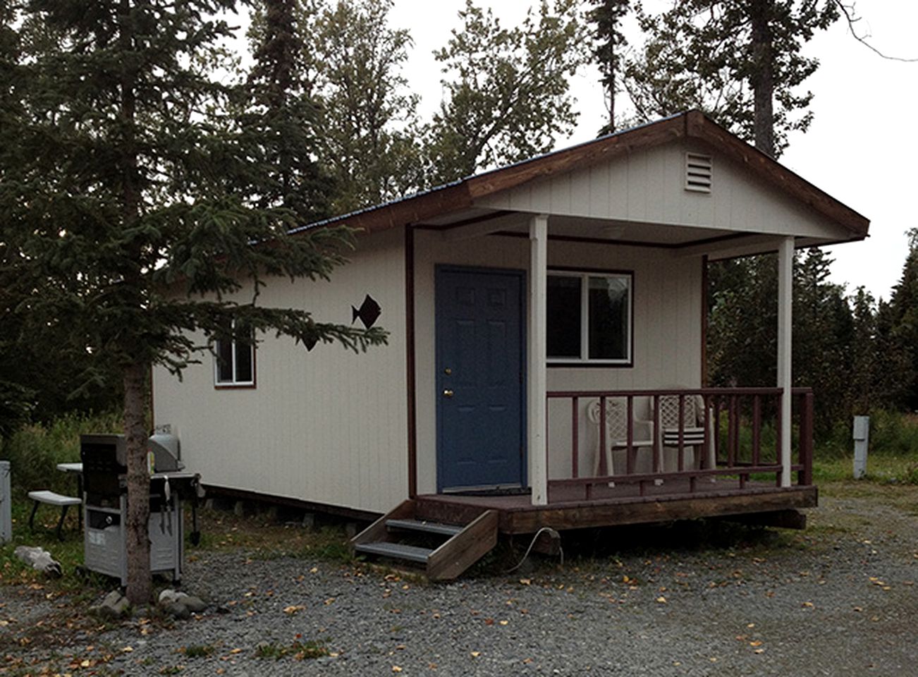
[(80, 460), (80, 435), (120, 433), (121, 414), (71, 413), (46, 425), (33, 424), (3, 440), (0, 458), (10, 462), (14, 493), (19, 496), (36, 489), (73, 493), (73, 478), (55, 466)]

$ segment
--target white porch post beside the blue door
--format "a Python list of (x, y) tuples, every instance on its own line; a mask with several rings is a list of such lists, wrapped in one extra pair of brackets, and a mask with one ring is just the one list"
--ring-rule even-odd
[(548, 503), (548, 460), (545, 442), (545, 293), (548, 285), (548, 217), (532, 217), (529, 223), (529, 327), (527, 421), (529, 484), (532, 505)]

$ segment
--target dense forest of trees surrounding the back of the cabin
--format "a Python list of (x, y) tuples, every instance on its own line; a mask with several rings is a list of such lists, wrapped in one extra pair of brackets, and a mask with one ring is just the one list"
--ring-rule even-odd
[[(26, 86), (17, 77), (42, 60), (73, 53), (74, 45), (91, 51), (99, 33), (91, 23), (92, 10), (119, 5), (160, 11), (167, 4), (35, 0), (0, 6), (0, 110), (9, 122), (0, 152), (0, 177), (6, 184), (0, 197), (9, 209), (0, 240), (0, 276), (5, 276), (0, 280), (0, 435), (7, 447), (28, 426), (123, 406), (125, 381), (118, 360), (89, 339), (82, 349), (79, 341), (73, 349), (73, 337), (62, 335), (65, 323), (36, 315), (34, 299), (14, 293), (22, 287), (12, 280), (22, 274), (21, 243), (27, 240), (23, 222), (10, 217), (15, 212), (10, 206), (22, 197), (16, 191), (25, 185), (13, 181), (23, 164), (21, 153), (28, 152), (20, 132), (28, 125), (34, 128), (40, 116), (53, 128), (48, 96), (57, 96), (55, 105), (60, 105), (73, 94), (44, 82), (44, 98), (17, 95)], [(576, 129), (579, 111), (571, 84), (588, 66), (599, 67), (606, 92), (597, 134), (698, 107), (780, 159), (812, 123), (807, 80), (819, 63), (805, 48), (815, 35), (847, 24), (850, 49), (863, 50), (864, 59), (901, 60), (901, 55), (874, 53), (883, 46), (866, 34), (857, 7), (838, 0), (684, 0), (647, 3), (646, 9), (629, 0), (546, 0), (533, 3), (512, 24), (467, 0), (457, 28), (434, 52), (441, 80), (425, 88), (428, 100), (421, 107), (406, 74), (413, 37), (397, 27), (391, 0), (189, 5), (195, 8), (196, 25), (210, 33), (193, 48), (183, 48), (181, 58), (217, 86), (195, 92), (185, 123), (200, 129), (204, 120), (208, 134), (213, 133), (182, 138), (181, 120), (170, 122), (178, 125), (170, 133), (178, 143), (192, 146), (216, 137), (252, 144), (249, 151), (266, 164), (233, 167), (218, 187), (245, 195), (247, 209), (286, 210), (288, 226), (552, 150)], [(765, 102), (763, 78), (770, 78), (767, 118), (759, 115)], [(439, 92), (439, 104), (430, 104), (431, 92)], [(287, 141), (253, 141), (258, 135)], [(200, 158), (214, 161), (213, 155)], [(267, 164), (281, 168), (269, 177), (271, 186), (264, 177), (252, 176)], [(194, 193), (187, 183), (182, 190)], [(847, 445), (853, 414), (890, 416), (918, 409), (918, 230), (910, 230), (906, 218), (901, 230), (907, 233), (908, 254), (888, 299), (832, 281), (832, 258), (823, 250), (797, 254), (794, 380), (815, 390), (823, 449)], [(60, 236), (50, 233), (51, 239)], [(252, 231), (246, 237), (241, 242), (250, 242)], [(342, 260), (335, 259), (331, 267)], [(330, 267), (319, 271), (321, 276), (329, 273)], [(774, 257), (711, 264), (709, 280), (708, 385), (773, 385)], [(43, 317), (40, 326), (37, 316)], [(252, 317), (258, 326), (269, 320), (278, 319)], [(224, 321), (208, 315), (204, 324), (216, 335)], [(288, 322), (285, 329), (302, 327)], [(328, 335), (309, 341), (380, 340), (325, 329)], [(65, 344), (70, 349), (51, 347)], [(170, 364), (180, 369), (190, 358), (189, 347), (181, 346), (181, 359)], [(151, 355), (148, 361), (172, 359), (155, 351)], [(7, 448), (3, 456), (9, 454)]]

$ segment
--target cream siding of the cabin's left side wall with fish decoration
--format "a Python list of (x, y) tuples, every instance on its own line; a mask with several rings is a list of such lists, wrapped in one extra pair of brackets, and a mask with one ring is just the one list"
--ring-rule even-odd
[(263, 336), (254, 389), (215, 389), (208, 354), (181, 382), (154, 371), (155, 421), (176, 425), (185, 464), (205, 483), (374, 512), (406, 497), (403, 231), (358, 238), (351, 259), (330, 282), (274, 279), (259, 302), (351, 324), (351, 306), (369, 293), (382, 307), (387, 345), (359, 355), (339, 344), (307, 352)]

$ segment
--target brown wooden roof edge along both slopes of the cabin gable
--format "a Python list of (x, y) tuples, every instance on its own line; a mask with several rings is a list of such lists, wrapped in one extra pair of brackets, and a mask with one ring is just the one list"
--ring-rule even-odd
[[(840, 227), (840, 236), (832, 240), (803, 241), (800, 244), (850, 242), (868, 235), (869, 220), (854, 209), (813, 186), (800, 175), (791, 172), (764, 152), (756, 150), (698, 110), (679, 113), (670, 118), (621, 130), (594, 141), (571, 148), (550, 152), (518, 164), (511, 164), (482, 174), (460, 179), (444, 186), (401, 199), (362, 209), (304, 226), (296, 231), (306, 231), (327, 225), (346, 223), (367, 232), (385, 231), (404, 225), (427, 226), (436, 229), (453, 229), (482, 223), (483, 231), (519, 231), (513, 224), (516, 212), (487, 206), (488, 198), (553, 176), (608, 162), (630, 153), (648, 150), (677, 140), (698, 140), (723, 157), (733, 161), (754, 175), (760, 182), (791, 198), (805, 209)], [(487, 222), (487, 223), (486, 223)], [(503, 222), (504, 225), (501, 225)], [(605, 225), (607, 233), (615, 231), (615, 222)], [(467, 230), (467, 229), (466, 229)], [(656, 246), (687, 249), (708, 249), (746, 246), (751, 250), (767, 250), (770, 237), (755, 236), (748, 232), (724, 232), (693, 226), (681, 228), (671, 224), (647, 222), (641, 224), (641, 239), (634, 243), (655, 243)], [(582, 237), (576, 219), (554, 217), (552, 234), (556, 238)], [(610, 237), (608, 234), (606, 237)], [(752, 237), (752, 239), (750, 239)], [(740, 238), (745, 238), (740, 240)], [(611, 236), (611, 239), (627, 240)]]

